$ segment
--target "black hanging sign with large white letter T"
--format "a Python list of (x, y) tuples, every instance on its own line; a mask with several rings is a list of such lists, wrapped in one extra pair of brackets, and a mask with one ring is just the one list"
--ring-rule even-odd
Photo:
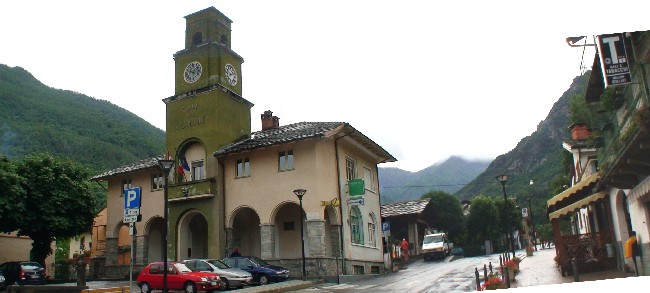
[(624, 34), (600, 35), (597, 39), (605, 87), (632, 82)]

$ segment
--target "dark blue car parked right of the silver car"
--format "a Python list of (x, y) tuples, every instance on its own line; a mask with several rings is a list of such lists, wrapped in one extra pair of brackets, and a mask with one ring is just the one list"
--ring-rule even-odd
[(247, 271), (253, 275), (253, 282), (266, 285), (269, 282), (282, 282), (289, 278), (289, 270), (280, 266), (271, 265), (254, 256), (235, 256), (222, 259), (224, 263)]

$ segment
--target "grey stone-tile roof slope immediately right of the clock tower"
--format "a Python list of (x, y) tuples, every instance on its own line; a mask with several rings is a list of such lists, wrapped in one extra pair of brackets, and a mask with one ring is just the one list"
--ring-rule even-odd
[(329, 131), (347, 125), (344, 122), (300, 122), (253, 132), (250, 138), (227, 144), (214, 152), (214, 156), (253, 150), (296, 140), (325, 136)]

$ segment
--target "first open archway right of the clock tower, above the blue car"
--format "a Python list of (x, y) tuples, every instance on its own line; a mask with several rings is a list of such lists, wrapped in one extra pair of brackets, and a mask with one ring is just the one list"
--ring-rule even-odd
[(231, 217), (230, 247), (242, 255), (261, 257), (260, 217), (249, 207), (237, 209)]

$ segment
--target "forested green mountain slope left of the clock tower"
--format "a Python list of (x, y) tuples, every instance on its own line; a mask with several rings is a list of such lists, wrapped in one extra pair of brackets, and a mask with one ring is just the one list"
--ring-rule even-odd
[(95, 172), (164, 152), (165, 132), (108, 101), (48, 87), (0, 64), (0, 155), (48, 152)]

